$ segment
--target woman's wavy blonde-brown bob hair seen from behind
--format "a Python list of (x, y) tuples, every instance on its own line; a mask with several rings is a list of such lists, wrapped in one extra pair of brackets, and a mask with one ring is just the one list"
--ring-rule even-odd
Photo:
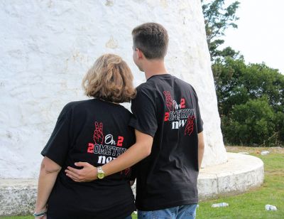
[(130, 102), (136, 95), (129, 66), (114, 54), (99, 57), (84, 76), (82, 86), (87, 96), (109, 102)]

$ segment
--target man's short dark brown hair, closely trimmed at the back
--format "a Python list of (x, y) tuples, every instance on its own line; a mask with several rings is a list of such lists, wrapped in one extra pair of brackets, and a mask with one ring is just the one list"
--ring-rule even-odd
[(167, 30), (159, 23), (143, 23), (132, 31), (133, 46), (148, 59), (163, 59), (168, 50)]

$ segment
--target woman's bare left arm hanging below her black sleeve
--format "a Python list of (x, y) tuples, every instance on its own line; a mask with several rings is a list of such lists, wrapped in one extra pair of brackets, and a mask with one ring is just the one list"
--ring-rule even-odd
[(38, 196), (35, 203), (35, 213), (40, 213), (46, 210), (48, 197), (53, 189), (61, 166), (56, 164), (47, 156), (43, 158), (40, 165), (40, 176), (38, 178)]

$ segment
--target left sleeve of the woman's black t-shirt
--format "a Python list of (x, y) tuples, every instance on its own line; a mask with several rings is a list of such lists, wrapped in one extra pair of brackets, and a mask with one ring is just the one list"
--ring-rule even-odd
[(41, 154), (63, 166), (70, 146), (70, 110), (64, 107), (55, 124), (53, 133)]

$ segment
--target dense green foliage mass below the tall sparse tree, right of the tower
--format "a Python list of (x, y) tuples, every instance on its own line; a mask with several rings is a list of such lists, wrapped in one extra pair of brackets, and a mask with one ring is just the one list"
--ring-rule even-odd
[(284, 145), (284, 75), (264, 63), (225, 58), (212, 65), (227, 144)]

